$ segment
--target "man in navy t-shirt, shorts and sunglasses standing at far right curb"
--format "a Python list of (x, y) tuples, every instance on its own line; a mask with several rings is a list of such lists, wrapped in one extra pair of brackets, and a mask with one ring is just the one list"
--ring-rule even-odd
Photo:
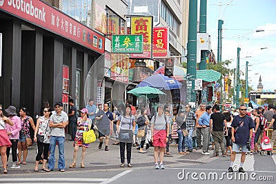
[(241, 163), (239, 165), (239, 172), (245, 172), (243, 169), (244, 161), (246, 160), (247, 143), (251, 143), (253, 128), (255, 124), (250, 116), (246, 115), (246, 105), (239, 106), (239, 116), (235, 116), (231, 124), (232, 127), (232, 141), (233, 150), (230, 158), (230, 167), (228, 172), (233, 172), (233, 164), (236, 153), (239, 152), (239, 147), (242, 147)]

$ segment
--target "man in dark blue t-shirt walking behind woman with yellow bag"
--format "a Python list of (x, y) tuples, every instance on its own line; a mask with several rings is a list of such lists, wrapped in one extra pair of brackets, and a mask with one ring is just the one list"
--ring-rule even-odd
[(103, 137), (106, 137), (106, 148), (104, 150), (108, 151), (108, 136), (113, 131), (113, 114), (108, 111), (108, 103), (103, 104), (103, 110), (101, 110), (101, 105), (98, 105), (98, 108), (99, 112), (97, 112), (95, 119), (97, 120), (97, 127), (99, 129), (99, 149), (103, 145)]

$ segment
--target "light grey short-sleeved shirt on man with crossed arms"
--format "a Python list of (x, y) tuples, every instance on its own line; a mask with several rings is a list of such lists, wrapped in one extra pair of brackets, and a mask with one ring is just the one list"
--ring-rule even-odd
[[(54, 123), (62, 123), (63, 121), (68, 121), (68, 115), (64, 111), (61, 111), (61, 114), (57, 114), (57, 112), (54, 112), (50, 116), (50, 121), (52, 121)], [(52, 127), (51, 128), (51, 136), (65, 137), (64, 128), (63, 127)]]

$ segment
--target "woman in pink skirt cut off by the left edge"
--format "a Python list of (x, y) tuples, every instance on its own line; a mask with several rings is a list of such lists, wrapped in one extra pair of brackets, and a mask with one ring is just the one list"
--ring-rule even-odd
[(13, 125), (13, 122), (3, 115), (2, 105), (0, 105), (0, 153), (1, 160), (3, 164), (3, 173), (7, 174), (7, 147), (10, 147), (12, 143), (8, 139), (8, 134), (6, 132), (6, 124)]

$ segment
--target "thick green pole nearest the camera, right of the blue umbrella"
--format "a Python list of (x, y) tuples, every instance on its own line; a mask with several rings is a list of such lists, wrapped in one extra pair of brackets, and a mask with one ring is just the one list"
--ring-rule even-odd
[(187, 43), (187, 75), (192, 86), (188, 102), (195, 103), (195, 79), (197, 78), (197, 0), (189, 1), (189, 23)]

